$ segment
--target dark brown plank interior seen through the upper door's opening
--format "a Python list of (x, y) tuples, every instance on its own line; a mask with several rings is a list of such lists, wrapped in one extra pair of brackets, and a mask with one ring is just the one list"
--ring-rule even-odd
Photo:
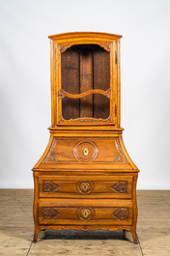
[[(72, 95), (89, 90), (110, 88), (110, 54), (99, 45), (74, 45), (61, 54), (62, 89)], [(110, 100), (100, 94), (81, 99), (64, 98), (62, 115), (66, 120), (75, 118), (109, 117)]]

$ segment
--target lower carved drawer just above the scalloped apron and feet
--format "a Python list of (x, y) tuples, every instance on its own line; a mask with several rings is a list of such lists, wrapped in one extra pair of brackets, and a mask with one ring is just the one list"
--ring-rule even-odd
[[(81, 200), (82, 201), (82, 200)], [(113, 202), (113, 200), (54, 199), (52, 202), (41, 200), (39, 221), (41, 224), (71, 225), (131, 225), (132, 203)]]

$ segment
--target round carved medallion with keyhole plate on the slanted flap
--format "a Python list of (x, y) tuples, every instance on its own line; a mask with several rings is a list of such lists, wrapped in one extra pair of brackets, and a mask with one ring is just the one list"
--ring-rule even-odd
[(99, 149), (92, 141), (80, 141), (73, 148), (73, 154), (79, 161), (93, 161), (98, 153)]

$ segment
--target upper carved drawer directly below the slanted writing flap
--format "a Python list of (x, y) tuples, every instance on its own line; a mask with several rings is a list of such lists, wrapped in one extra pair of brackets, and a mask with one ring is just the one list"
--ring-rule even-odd
[(131, 198), (132, 176), (40, 176), (40, 197)]

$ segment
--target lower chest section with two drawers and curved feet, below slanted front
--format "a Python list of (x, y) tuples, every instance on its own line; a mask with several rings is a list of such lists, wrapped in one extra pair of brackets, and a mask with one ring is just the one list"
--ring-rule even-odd
[(34, 241), (52, 228), (129, 230), (137, 242), (137, 174), (45, 171), (34, 179)]

